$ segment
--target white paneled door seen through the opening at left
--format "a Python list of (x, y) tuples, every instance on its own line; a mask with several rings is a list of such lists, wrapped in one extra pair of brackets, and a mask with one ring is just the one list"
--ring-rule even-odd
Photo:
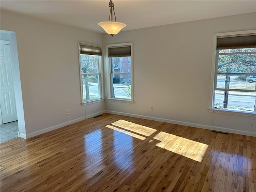
[(10, 46), (0, 44), (0, 103), (2, 123), (17, 120), (14, 85), (12, 80), (12, 65)]

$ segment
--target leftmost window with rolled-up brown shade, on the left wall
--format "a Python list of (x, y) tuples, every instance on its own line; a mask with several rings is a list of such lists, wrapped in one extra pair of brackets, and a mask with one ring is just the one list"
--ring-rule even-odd
[(82, 103), (100, 99), (102, 49), (100, 46), (79, 42), (79, 52)]

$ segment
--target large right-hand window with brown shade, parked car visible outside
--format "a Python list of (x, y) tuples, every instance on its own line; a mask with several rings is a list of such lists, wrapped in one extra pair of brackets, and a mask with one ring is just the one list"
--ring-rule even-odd
[(215, 34), (212, 108), (255, 113), (256, 33)]

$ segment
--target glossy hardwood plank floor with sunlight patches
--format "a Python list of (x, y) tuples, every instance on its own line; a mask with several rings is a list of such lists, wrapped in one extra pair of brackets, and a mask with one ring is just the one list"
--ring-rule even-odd
[(256, 138), (113, 114), (1, 143), (1, 192), (256, 191)]

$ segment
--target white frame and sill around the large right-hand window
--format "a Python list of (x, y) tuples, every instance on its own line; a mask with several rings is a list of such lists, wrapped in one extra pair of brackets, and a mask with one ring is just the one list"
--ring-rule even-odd
[(225, 109), (215, 109), (214, 108), (214, 90), (216, 86), (216, 79), (217, 79), (217, 63), (216, 63), (216, 46), (217, 46), (217, 37), (220, 36), (239, 36), (243, 34), (255, 34), (256, 30), (246, 30), (246, 31), (237, 31), (237, 32), (226, 32), (226, 33), (216, 33), (213, 35), (213, 43), (212, 43), (212, 67), (211, 67), (211, 80), (210, 80), (210, 101), (209, 101), (209, 108), (210, 112), (222, 113), (222, 114), (233, 114), (233, 115), (241, 115), (241, 116), (250, 116), (254, 117), (256, 111), (254, 112), (242, 112), (242, 111), (231, 111)]

